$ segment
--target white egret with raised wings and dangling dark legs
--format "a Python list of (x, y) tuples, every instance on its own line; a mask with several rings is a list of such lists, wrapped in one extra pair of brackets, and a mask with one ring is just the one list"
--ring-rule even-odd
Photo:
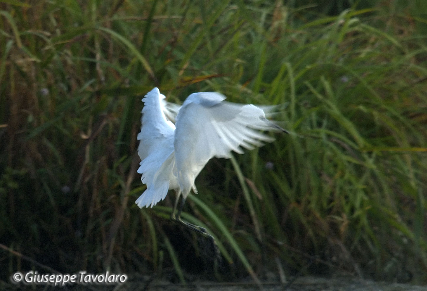
[(243, 153), (240, 147), (253, 149), (262, 141), (273, 141), (259, 130), (287, 131), (266, 119), (265, 112), (272, 106), (261, 109), (252, 104), (230, 103), (216, 92), (190, 94), (182, 106), (167, 103), (165, 98), (154, 88), (142, 99), (142, 125), (137, 136), (141, 162), (137, 172), (142, 174), (141, 181), (147, 188), (135, 203), (140, 208), (152, 207), (169, 190), (175, 190), (171, 219), (213, 240), (204, 228), (181, 220), (185, 199), (191, 190), (197, 193), (196, 176), (213, 157), (230, 158), (231, 151)]

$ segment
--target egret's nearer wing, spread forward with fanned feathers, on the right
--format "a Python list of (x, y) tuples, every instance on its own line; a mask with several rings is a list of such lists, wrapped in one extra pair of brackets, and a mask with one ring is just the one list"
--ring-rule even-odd
[(230, 158), (231, 151), (243, 153), (240, 147), (253, 149), (261, 146), (261, 141), (273, 140), (256, 130), (277, 129), (265, 119), (262, 109), (224, 99), (219, 93), (194, 93), (178, 112), (174, 148), (183, 194), (190, 191), (195, 177), (212, 157)]

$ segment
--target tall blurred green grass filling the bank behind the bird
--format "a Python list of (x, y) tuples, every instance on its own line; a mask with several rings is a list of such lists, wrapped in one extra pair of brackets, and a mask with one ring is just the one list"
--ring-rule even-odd
[[(183, 215), (218, 279), (427, 280), (427, 2), (0, 0), (0, 279), (190, 280), (212, 262), (135, 199), (142, 96), (285, 104), (295, 135), (208, 163)], [(12, 252), (13, 251), (13, 252)], [(17, 255), (18, 254), (18, 255)], [(19, 254), (22, 254), (22, 257)]]

